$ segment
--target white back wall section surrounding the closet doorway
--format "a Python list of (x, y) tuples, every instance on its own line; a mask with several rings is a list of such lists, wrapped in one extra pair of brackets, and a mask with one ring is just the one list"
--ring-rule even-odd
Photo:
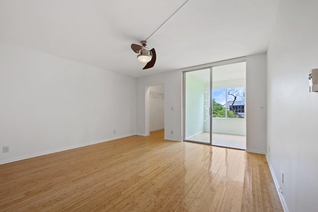
[(181, 71), (137, 78), (137, 135), (149, 135), (148, 87), (164, 84), (164, 138), (181, 141), (181, 78)]

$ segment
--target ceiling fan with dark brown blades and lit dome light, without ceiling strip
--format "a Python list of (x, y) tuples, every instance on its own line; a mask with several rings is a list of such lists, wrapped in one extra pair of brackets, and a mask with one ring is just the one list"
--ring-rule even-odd
[[(149, 51), (149, 49), (146, 47), (147, 46), (147, 41), (142, 41), (141, 45), (137, 45), (137, 44), (132, 44), (131, 45), (131, 49), (136, 52), (137, 54), (139, 54), (137, 56), (138, 60), (142, 63), (147, 63), (146, 66), (144, 67), (144, 69), (149, 69), (154, 67), (155, 63), (156, 63), (156, 51), (155, 49), (151, 49)], [(143, 70), (144, 70), (143, 69)]]

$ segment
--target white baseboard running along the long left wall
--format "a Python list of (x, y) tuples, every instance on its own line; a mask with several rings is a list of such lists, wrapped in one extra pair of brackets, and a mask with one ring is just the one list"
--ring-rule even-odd
[(32, 157), (38, 157), (38, 156), (42, 156), (42, 155), (46, 155), (46, 154), (52, 154), (52, 153), (56, 153), (56, 152), (60, 152), (60, 151), (75, 149), (75, 148), (79, 148), (79, 147), (83, 147), (83, 146), (93, 145), (93, 144), (96, 144), (96, 143), (102, 143), (102, 142), (112, 141), (112, 140), (121, 139), (121, 138), (129, 137), (129, 136), (135, 136), (135, 135), (136, 134), (133, 133), (133, 134), (128, 134), (128, 135), (124, 135), (124, 136), (112, 137), (112, 138), (109, 138), (109, 139), (91, 141), (91, 142), (87, 142), (87, 143), (81, 143), (81, 144), (72, 145), (72, 146), (68, 146), (68, 147), (57, 148), (57, 149), (48, 150), (48, 151), (44, 151), (44, 152), (38, 152), (38, 153), (34, 153), (34, 154), (24, 155), (24, 156), (21, 156), (21, 157), (5, 159), (5, 160), (1, 160), (0, 161), (0, 165), (5, 164), (5, 163), (11, 163), (11, 162), (19, 161), (19, 160), (25, 160), (25, 159), (29, 159), (29, 158), (32, 158)]

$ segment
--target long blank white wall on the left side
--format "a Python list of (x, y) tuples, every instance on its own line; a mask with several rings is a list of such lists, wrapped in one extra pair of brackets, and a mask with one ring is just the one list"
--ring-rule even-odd
[(135, 135), (135, 124), (135, 78), (0, 43), (0, 163)]

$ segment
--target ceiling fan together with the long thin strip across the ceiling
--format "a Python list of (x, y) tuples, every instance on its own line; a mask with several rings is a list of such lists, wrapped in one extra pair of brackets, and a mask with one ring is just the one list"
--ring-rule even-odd
[[(186, 0), (175, 12), (173, 12), (172, 15), (170, 15), (170, 17), (168, 17), (168, 19), (166, 19), (156, 30), (155, 32), (157, 32), (157, 30), (165, 23), (167, 22), (186, 2), (188, 2), (189, 0)], [(153, 34), (155, 34), (155, 32), (153, 32)], [(144, 69), (150, 69), (153, 68), (155, 66), (156, 63), (156, 51), (155, 49), (151, 49), (149, 50), (149, 48), (147, 48), (147, 40), (153, 35), (151, 34), (146, 40), (141, 41), (141, 45), (137, 45), (137, 44), (132, 44), (131, 45), (131, 49), (139, 54), (137, 56), (138, 60), (142, 63), (147, 63), (146, 66), (144, 67)], [(143, 70), (144, 70), (143, 69)]]

